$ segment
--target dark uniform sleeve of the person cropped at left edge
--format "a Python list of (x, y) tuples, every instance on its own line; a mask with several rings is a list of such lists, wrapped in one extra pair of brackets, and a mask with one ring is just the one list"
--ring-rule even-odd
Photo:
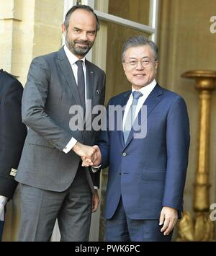
[(0, 195), (12, 198), (17, 187), (11, 169), (17, 169), (27, 128), (22, 123), (22, 85), (15, 79), (6, 88), (0, 107)]

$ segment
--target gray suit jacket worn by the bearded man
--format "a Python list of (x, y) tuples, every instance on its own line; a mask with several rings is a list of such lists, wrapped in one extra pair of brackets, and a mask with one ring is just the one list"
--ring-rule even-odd
[[(92, 100), (92, 107), (104, 105), (104, 71), (86, 61), (86, 80), (87, 99)], [(81, 102), (63, 48), (35, 58), (22, 98), (22, 120), (29, 131), (19, 162), (18, 182), (50, 191), (64, 191), (71, 185), (81, 158), (73, 151), (65, 154), (63, 149), (71, 137), (93, 146), (97, 136), (95, 131), (71, 131), (73, 115), (69, 109), (73, 105)], [(86, 177), (93, 192), (94, 174), (90, 169), (86, 169)], [(99, 185), (98, 177), (94, 185)]]

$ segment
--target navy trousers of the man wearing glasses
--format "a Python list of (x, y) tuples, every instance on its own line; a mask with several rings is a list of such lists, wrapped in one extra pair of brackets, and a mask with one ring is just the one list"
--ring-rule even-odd
[(112, 219), (106, 221), (107, 242), (170, 242), (161, 233), (159, 220), (130, 219), (125, 213), (122, 198)]

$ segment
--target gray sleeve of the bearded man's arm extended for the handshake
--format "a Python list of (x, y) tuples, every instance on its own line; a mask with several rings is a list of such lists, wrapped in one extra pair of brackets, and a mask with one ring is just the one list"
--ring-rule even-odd
[(50, 67), (44, 58), (35, 58), (30, 66), (22, 97), (22, 120), (55, 148), (63, 151), (73, 137), (45, 112), (50, 84)]

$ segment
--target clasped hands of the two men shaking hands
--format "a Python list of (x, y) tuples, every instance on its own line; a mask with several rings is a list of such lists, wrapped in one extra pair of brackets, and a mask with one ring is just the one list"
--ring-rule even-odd
[(83, 167), (98, 167), (102, 163), (102, 154), (98, 146), (86, 146), (77, 142), (73, 146), (73, 151), (81, 156)]

